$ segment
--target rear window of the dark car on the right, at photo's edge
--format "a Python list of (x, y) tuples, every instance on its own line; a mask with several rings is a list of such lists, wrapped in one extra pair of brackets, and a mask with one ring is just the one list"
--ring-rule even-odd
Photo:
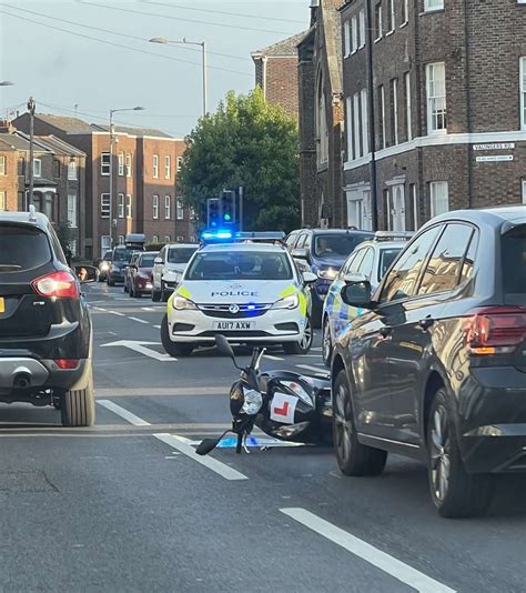
[(526, 304), (526, 224), (503, 235), (502, 264), (506, 304)]

